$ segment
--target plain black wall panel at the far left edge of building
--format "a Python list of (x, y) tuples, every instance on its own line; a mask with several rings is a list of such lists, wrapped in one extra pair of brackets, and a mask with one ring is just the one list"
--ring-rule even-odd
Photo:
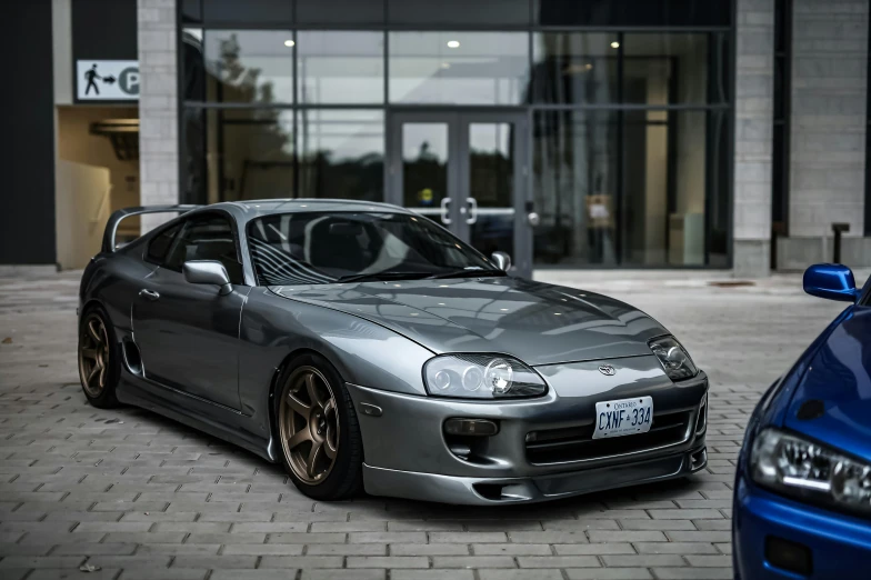
[(51, 0), (0, 2), (0, 263), (51, 264), (54, 241), (54, 89)]

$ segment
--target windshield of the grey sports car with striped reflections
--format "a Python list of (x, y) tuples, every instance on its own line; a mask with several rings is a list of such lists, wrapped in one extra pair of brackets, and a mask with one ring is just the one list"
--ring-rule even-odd
[(389, 212), (276, 213), (252, 220), (258, 284), (504, 276), (429, 219)]

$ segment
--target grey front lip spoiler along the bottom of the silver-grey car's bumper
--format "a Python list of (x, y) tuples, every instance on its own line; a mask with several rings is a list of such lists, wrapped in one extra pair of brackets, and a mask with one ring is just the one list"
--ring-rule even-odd
[(702, 444), (689, 451), (625, 466), (525, 478), (468, 478), (384, 469), (363, 463), (363, 484), (372, 496), (467, 506), (533, 503), (607, 489), (664, 481), (708, 464)]

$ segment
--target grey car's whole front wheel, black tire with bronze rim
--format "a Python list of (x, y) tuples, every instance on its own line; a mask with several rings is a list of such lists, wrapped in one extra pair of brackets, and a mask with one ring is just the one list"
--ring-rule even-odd
[(363, 444), (351, 397), (319, 354), (302, 354), (279, 378), (276, 433), (297, 488), (317, 500), (340, 500), (362, 488)]

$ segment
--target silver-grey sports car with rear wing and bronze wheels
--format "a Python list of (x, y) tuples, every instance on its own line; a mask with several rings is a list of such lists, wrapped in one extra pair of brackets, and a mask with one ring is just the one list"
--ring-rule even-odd
[[(148, 212), (180, 216), (117, 247)], [(321, 500), (515, 503), (702, 469), (708, 379), (668, 330), (509, 268), (383, 203), (121, 210), (81, 281), (82, 388)]]

